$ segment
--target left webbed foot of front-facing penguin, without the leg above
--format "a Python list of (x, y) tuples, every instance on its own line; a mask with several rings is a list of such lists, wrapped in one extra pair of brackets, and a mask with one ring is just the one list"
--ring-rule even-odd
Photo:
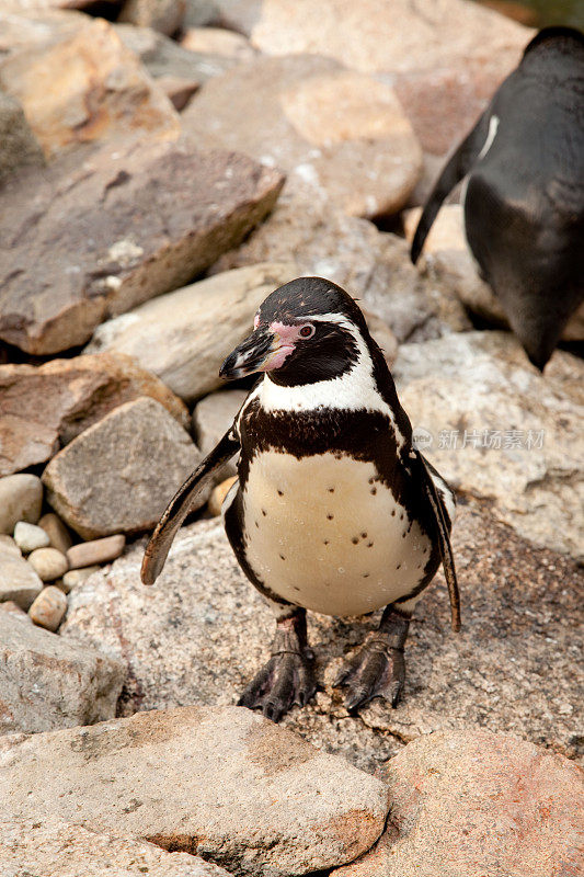
[(279, 721), (294, 704), (306, 706), (317, 691), (314, 653), (311, 649), (274, 654), (252, 679), (238, 706), (261, 709), (272, 721)]

